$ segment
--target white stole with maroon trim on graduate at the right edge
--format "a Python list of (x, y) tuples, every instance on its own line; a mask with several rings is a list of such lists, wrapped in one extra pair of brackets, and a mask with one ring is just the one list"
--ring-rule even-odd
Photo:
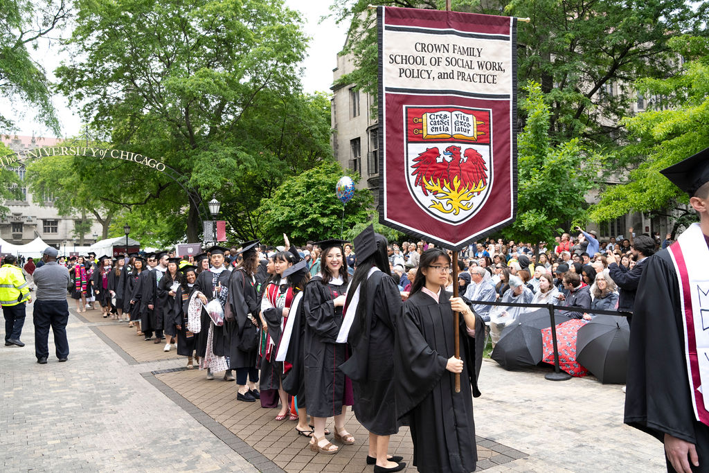
[(693, 223), (669, 254), (679, 280), (681, 311), (684, 315), (684, 346), (694, 416), (709, 425), (709, 248), (698, 223)]

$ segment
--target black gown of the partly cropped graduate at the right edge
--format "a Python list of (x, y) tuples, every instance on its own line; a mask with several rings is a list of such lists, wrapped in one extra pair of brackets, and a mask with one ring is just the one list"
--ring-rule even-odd
[[(668, 250), (647, 259), (630, 328), (625, 423), (660, 441), (669, 433), (696, 445), (709, 470), (709, 427), (694, 416), (684, 355), (679, 282)], [(668, 471), (674, 471), (667, 462)]]

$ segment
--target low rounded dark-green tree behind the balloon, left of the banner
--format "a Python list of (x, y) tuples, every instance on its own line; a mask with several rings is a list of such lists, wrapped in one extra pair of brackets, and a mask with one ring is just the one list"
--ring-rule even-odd
[[(288, 179), (264, 199), (260, 237), (266, 242), (280, 241), (283, 233), (294, 244), (308, 240), (340, 238), (345, 229), (371, 221), (372, 194), (368, 190), (354, 192), (342, 212), (342, 202), (335, 195), (337, 181), (345, 174), (337, 162), (323, 162), (318, 167)], [(350, 174), (356, 183), (358, 175)]]

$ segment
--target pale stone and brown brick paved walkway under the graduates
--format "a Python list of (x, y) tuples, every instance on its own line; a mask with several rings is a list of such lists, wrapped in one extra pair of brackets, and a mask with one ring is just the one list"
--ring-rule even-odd
[[(31, 306), (22, 337), (28, 345), (0, 350), (3, 471), (371, 471), (367, 434), (351, 414), (346, 425), (357, 444), (315, 455), (296, 423), (236, 401), (233, 382), (184, 369), (174, 350), (163, 352), (100, 311), (72, 314), (67, 363), (53, 355), (48, 365), (35, 363)], [(549, 382), (545, 373), (506, 372), (485, 360), (483, 397), (474, 401), (478, 470), (664, 468), (661, 444), (623, 425), (620, 386), (592, 377)], [(392, 436), (390, 451), (411, 464), (406, 428)]]

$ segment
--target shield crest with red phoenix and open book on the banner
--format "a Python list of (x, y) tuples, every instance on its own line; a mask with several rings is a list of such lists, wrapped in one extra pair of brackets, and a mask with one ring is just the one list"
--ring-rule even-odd
[(485, 204), (492, 187), (490, 111), (404, 107), (406, 182), (433, 217), (459, 223)]

